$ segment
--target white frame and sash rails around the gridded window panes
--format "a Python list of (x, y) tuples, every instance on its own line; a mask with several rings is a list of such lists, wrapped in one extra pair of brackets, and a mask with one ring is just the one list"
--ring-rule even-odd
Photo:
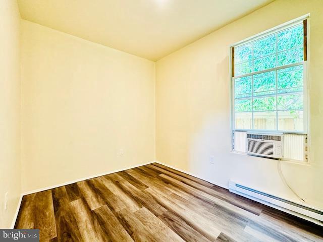
[[(266, 36), (275, 34), (277, 32), (283, 31), (285, 29), (291, 28), (293, 26), (302, 24), (304, 20), (306, 21), (306, 27), (307, 27), (307, 61), (303, 61), (301, 63), (295, 63), (295, 64), (290, 64), (290, 65), (286, 65), (283, 67), (276, 67), (276, 68), (272, 68), (272, 69), (267, 69), (267, 70), (263, 70), (263, 71), (259, 71), (259, 72), (254, 72), (254, 73), (249, 73), (249, 74), (245, 74), (245, 75), (241, 75), (241, 76), (236, 76), (236, 77), (232, 77), (232, 65), (234, 65), (234, 63), (232, 62), (232, 48), (236, 48), (239, 47), (241, 45), (247, 44), (247, 43), (251, 43), (254, 42), (258, 39), (264, 38)], [(277, 51), (277, 49), (276, 49)], [(245, 131), (245, 132), (258, 132), (258, 133), (280, 133), (280, 134), (307, 134), (308, 130), (309, 130), (309, 120), (308, 120), (308, 113), (307, 111), (309, 110), (309, 93), (308, 93), (308, 77), (309, 77), (309, 73), (308, 73), (308, 59), (309, 59), (309, 14), (299, 17), (297, 19), (294, 19), (292, 21), (289, 21), (285, 24), (279, 25), (277, 27), (274, 27), (272, 29), (269, 29), (267, 31), (261, 32), (259, 34), (256, 34), (254, 36), (251, 36), (247, 39), (244, 39), (242, 41), (239, 41), (237, 43), (234, 43), (232, 45), (230, 45), (230, 107), (231, 107), (231, 134), (233, 134), (234, 131)], [(255, 129), (235, 129), (235, 78), (241, 78), (244, 76), (251, 76), (251, 75), (256, 75), (256, 74), (260, 74), (260, 73), (264, 73), (264, 72), (270, 72), (270, 71), (276, 71), (276, 70), (281, 70), (281, 69), (285, 69), (285, 68), (289, 68), (289, 67), (293, 67), (293, 66), (303, 66), (303, 102), (304, 102), (304, 107), (303, 107), (303, 117), (304, 117), (304, 127), (303, 127), (303, 131), (302, 132), (296, 132), (296, 131), (282, 131), (282, 130), (255, 130)], [(276, 87), (276, 95), (277, 95), (277, 87)], [(276, 112), (277, 115), (277, 112)], [(276, 122), (278, 123), (278, 118), (276, 117)], [(253, 123), (253, 120), (252, 120)], [(232, 137), (233, 138), (233, 137)], [(231, 139), (232, 140), (232, 139)]]

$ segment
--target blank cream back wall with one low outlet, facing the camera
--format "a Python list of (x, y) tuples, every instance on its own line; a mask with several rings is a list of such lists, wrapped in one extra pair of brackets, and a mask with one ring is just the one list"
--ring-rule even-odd
[(154, 160), (154, 62), (21, 28), (23, 191)]

